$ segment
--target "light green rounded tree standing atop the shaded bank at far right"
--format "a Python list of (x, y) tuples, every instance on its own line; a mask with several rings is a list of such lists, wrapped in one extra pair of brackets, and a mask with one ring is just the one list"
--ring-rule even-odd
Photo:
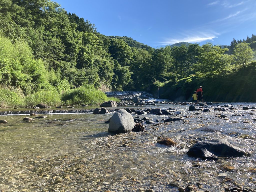
[(234, 48), (234, 58), (236, 59), (236, 64), (240, 65), (242, 68), (246, 67), (246, 64), (253, 58), (254, 53), (249, 47), (249, 44), (243, 42), (237, 44)]

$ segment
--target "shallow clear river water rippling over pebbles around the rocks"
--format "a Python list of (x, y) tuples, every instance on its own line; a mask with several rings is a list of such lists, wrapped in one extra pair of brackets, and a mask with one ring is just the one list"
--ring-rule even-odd
[[(189, 106), (159, 104), (152, 108), (174, 108), (182, 112), (178, 116), (185, 116), (185, 120), (163, 123), (169, 116), (132, 113), (134, 118), (147, 116), (161, 121), (145, 124), (144, 132), (118, 135), (108, 133), (109, 124), (105, 123), (114, 112), (47, 114), (47, 119), (33, 122), (22, 121), (27, 115), (0, 116), (0, 120), (8, 122), (0, 124), (0, 191), (113, 192), (151, 188), (160, 192), (178, 191), (175, 185), (186, 188), (197, 183), (203, 187), (200, 191), (224, 191), (225, 187), (237, 186), (255, 189), (256, 112), (242, 110), (240, 105), (256, 104), (229, 104), (236, 109), (214, 111), (215, 105), (210, 107), (211, 112), (200, 112), (188, 111)], [(200, 114), (195, 115), (197, 112)], [(197, 130), (202, 127), (216, 132)], [(157, 138), (162, 136), (178, 145), (158, 144)], [(217, 161), (187, 156), (195, 143), (216, 138), (224, 138), (252, 155)]]

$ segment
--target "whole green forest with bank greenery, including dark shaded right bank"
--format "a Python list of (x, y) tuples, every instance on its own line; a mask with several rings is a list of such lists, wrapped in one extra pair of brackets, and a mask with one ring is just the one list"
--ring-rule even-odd
[(252, 35), (229, 46), (155, 49), (100, 34), (50, 0), (0, 0), (0, 108), (99, 104), (105, 95), (92, 101), (83, 93), (155, 93), (158, 87), (160, 97), (171, 100), (187, 100), (203, 86), (207, 100), (256, 101), (255, 48)]

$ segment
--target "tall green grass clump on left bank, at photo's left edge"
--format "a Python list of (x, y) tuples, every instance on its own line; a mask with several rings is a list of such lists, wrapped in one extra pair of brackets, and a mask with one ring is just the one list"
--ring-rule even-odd
[(22, 98), (8, 89), (0, 89), (0, 108), (11, 108), (22, 106)]

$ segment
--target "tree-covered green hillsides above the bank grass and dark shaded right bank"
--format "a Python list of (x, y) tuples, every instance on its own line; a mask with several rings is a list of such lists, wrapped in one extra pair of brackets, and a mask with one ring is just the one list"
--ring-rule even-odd
[(254, 35), (233, 42), (232, 55), (212, 44), (154, 49), (100, 34), (90, 21), (50, 0), (0, 0), (0, 86), (25, 95), (85, 85), (152, 91), (192, 76), (220, 78), (247, 68), (254, 44)]

